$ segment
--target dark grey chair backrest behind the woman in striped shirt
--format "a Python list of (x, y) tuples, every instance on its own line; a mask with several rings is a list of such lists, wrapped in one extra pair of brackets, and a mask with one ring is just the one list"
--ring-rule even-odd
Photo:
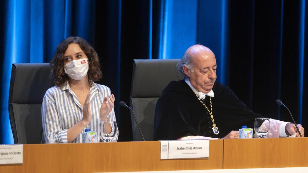
[(43, 97), (53, 86), (49, 63), (12, 64), (9, 115), (14, 143), (41, 143)]

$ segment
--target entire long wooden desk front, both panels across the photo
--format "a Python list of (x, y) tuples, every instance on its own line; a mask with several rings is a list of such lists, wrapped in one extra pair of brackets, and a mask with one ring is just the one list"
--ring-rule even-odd
[(160, 142), (23, 145), (22, 165), (0, 173), (308, 167), (308, 138), (210, 140), (209, 159), (160, 160)]

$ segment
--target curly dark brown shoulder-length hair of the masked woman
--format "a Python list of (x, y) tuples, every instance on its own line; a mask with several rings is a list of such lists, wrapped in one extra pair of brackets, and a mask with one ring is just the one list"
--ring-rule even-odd
[(57, 47), (54, 57), (50, 61), (51, 75), (56, 86), (62, 87), (69, 79), (68, 75), (64, 71), (64, 53), (67, 50), (69, 44), (79, 44), (80, 48), (87, 55), (89, 62), (88, 80), (98, 81), (102, 78), (103, 74), (100, 70), (99, 58), (92, 46), (83, 38), (69, 37), (63, 40)]

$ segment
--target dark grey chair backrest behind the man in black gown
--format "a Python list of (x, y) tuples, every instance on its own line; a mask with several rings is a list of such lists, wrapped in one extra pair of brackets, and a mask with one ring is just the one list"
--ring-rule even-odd
[[(181, 80), (176, 70), (180, 59), (135, 59), (132, 75), (130, 106), (132, 107), (144, 139), (153, 140), (154, 115), (161, 91), (172, 80)], [(133, 140), (142, 140), (131, 114)]]

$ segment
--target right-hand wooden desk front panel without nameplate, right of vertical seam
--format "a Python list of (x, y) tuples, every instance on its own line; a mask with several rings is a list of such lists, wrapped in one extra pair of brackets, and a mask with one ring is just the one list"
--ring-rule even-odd
[(308, 167), (308, 138), (224, 139), (224, 169)]

